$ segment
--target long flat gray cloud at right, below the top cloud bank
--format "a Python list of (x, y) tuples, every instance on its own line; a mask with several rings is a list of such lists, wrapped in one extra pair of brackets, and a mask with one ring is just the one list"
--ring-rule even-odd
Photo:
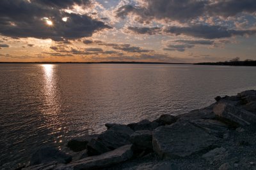
[(232, 36), (253, 35), (256, 30), (234, 30), (227, 29), (217, 25), (191, 25), (190, 27), (167, 27), (164, 32), (196, 38), (214, 39), (214, 38), (230, 38)]

